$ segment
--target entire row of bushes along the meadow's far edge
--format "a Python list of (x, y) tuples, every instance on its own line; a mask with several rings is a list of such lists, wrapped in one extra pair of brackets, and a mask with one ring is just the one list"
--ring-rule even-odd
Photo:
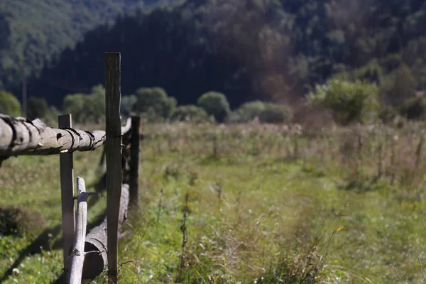
[[(407, 71), (405, 67), (401, 68), (399, 72)], [(403, 77), (403, 75), (400, 76)], [(395, 80), (390, 92), (405, 92), (405, 86), (408, 83), (409, 80)], [(0, 92), (0, 113), (11, 116), (21, 115), (21, 104), (13, 94)], [(97, 84), (88, 94), (67, 94), (60, 109), (49, 106), (44, 98), (28, 99), (27, 117), (30, 119), (40, 118), (55, 124), (60, 113), (72, 114), (73, 120), (77, 123), (103, 123), (104, 86)], [(197, 104), (178, 105), (177, 99), (169, 96), (161, 87), (140, 87), (133, 94), (125, 95), (121, 99), (122, 116), (138, 115), (147, 123), (165, 121), (303, 123), (310, 119), (310, 116), (315, 117), (318, 113), (322, 115), (314, 119), (329, 119), (341, 125), (375, 124), (378, 121), (394, 123), (398, 116), (400, 119), (426, 119), (426, 97), (408, 97), (399, 107), (392, 107), (391, 104), (381, 100), (381, 89), (378, 84), (336, 77), (325, 84), (317, 84), (315, 90), (306, 95), (303, 104), (300, 104), (298, 108), (283, 103), (254, 100), (231, 109), (226, 95), (216, 91), (201, 94)]]

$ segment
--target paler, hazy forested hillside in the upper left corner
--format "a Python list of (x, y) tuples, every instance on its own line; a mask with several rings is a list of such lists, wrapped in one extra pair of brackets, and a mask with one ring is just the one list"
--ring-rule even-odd
[(22, 61), (38, 75), (55, 55), (73, 48), (82, 35), (118, 13), (134, 13), (156, 0), (3, 0), (0, 2), (0, 89), (16, 89)]

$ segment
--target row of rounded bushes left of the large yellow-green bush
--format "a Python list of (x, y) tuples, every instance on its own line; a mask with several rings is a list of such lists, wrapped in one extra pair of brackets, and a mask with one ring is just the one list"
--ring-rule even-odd
[[(0, 113), (21, 116), (21, 104), (9, 92), (0, 92)], [(77, 123), (102, 123), (105, 118), (105, 89), (99, 84), (92, 87), (89, 94), (67, 94), (61, 109), (48, 106), (44, 98), (28, 99), (27, 117), (46, 119), (55, 122), (60, 113), (72, 114)], [(268, 113), (268, 114), (267, 114)], [(283, 123), (291, 120), (292, 114), (285, 105), (268, 104), (260, 101), (244, 104), (231, 111), (226, 96), (221, 92), (206, 92), (197, 100), (197, 104), (177, 106), (174, 97), (169, 97), (163, 88), (141, 87), (134, 94), (121, 98), (121, 115), (141, 116), (148, 123), (165, 121), (229, 122), (251, 121), (256, 116), (263, 122)]]

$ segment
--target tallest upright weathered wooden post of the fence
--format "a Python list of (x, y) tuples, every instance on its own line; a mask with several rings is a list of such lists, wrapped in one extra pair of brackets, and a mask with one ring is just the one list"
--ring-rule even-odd
[(105, 53), (105, 103), (107, 155), (108, 283), (117, 283), (118, 230), (121, 197), (121, 54)]

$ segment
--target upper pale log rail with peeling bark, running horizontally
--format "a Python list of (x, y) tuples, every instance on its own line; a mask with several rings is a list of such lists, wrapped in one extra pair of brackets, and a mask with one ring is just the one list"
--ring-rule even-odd
[[(130, 119), (121, 133), (130, 129)], [(0, 161), (13, 155), (55, 155), (92, 151), (104, 145), (105, 131), (53, 129), (40, 119), (33, 121), (0, 114)], [(2, 158), (3, 157), (3, 158)]]

